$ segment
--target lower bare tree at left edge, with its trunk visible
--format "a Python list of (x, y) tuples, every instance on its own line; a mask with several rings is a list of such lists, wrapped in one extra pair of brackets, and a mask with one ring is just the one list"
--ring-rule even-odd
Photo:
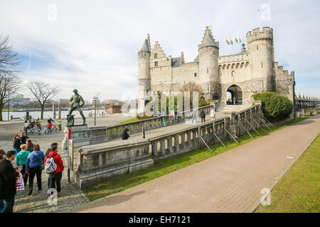
[[(0, 121), (3, 121), (2, 111), (10, 99), (18, 94), (18, 77), (11, 72), (0, 71)], [(9, 121), (9, 119), (8, 119)]]

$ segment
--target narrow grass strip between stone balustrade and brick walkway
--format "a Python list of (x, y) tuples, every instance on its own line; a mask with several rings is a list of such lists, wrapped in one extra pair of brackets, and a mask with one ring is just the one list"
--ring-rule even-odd
[[(298, 123), (299, 121), (303, 121), (306, 118), (296, 118), (294, 121), (289, 121), (284, 123), (282, 126), (277, 126), (276, 129), (270, 131), (265, 128), (268, 134), (278, 131), (282, 128), (290, 126), (294, 123)], [(239, 138), (239, 143), (235, 143), (234, 140), (224, 141), (226, 148), (223, 147), (220, 143), (211, 146), (211, 150), (213, 153), (210, 153), (208, 148), (202, 148), (200, 150), (194, 150), (189, 153), (185, 153), (183, 155), (179, 155), (177, 157), (173, 157), (168, 160), (164, 160), (163, 162), (156, 162), (154, 167), (150, 167), (144, 170), (139, 170), (129, 175), (123, 175), (121, 177), (116, 177), (102, 184), (99, 184), (95, 187), (90, 187), (84, 190), (85, 195), (90, 201), (94, 201), (95, 199), (100, 199), (102, 197), (108, 196), (110, 194), (114, 194), (117, 192), (121, 192), (125, 189), (129, 189), (131, 187), (137, 186), (138, 184), (143, 184), (144, 182), (149, 182), (151, 179), (155, 179), (157, 177), (161, 177), (169, 174), (170, 172), (174, 172), (176, 170), (180, 170), (183, 167), (187, 167), (189, 165), (193, 165), (196, 162), (201, 162), (215, 155), (219, 155), (220, 153), (224, 153), (227, 150), (231, 150), (245, 143), (249, 143), (252, 140), (260, 138), (266, 135), (261, 129), (258, 130), (261, 135), (258, 135), (256, 132), (251, 133), (252, 138), (249, 135), (242, 135)]]

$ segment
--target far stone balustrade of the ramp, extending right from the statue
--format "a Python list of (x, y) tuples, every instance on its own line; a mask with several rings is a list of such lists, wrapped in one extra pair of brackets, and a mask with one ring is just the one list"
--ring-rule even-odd
[[(204, 110), (206, 114), (210, 114), (213, 105), (203, 106), (199, 108), (199, 112)], [(175, 123), (181, 123), (187, 118), (192, 118), (191, 111), (176, 114), (176, 116), (163, 116), (156, 118), (148, 118), (141, 121), (132, 121), (114, 126), (67, 126), (65, 127), (65, 138), (63, 139), (63, 150), (68, 149), (68, 129), (71, 130), (71, 139), (73, 140), (74, 148), (79, 148), (84, 145), (94, 145), (106, 143), (115, 138), (121, 138), (124, 128), (129, 129), (129, 135), (141, 133), (142, 130), (150, 131), (156, 128), (164, 127), (163, 119), (166, 120), (168, 126)]]

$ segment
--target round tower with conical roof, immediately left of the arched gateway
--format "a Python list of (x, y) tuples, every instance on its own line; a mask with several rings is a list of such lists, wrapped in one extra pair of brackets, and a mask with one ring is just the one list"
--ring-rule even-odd
[(218, 75), (219, 43), (206, 27), (199, 50), (199, 82), (206, 99), (220, 98), (220, 81)]

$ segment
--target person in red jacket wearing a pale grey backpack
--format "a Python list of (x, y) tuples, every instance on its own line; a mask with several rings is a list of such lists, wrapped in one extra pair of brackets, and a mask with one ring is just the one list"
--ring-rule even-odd
[[(46, 172), (50, 174), (50, 189), (57, 189), (58, 196), (61, 196), (61, 178), (65, 167), (61, 156), (57, 153), (58, 147), (55, 145), (51, 150), (48, 157), (45, 157), (44, 163)], [(52, 194), (53, 192), (51, 192), (51, 196), (53, 196)]]

